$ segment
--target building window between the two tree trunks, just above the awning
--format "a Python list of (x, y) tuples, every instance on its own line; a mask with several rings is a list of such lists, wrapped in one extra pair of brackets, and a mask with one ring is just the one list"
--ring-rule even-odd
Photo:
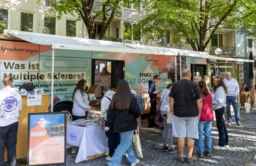
[(136, 26), (135, 23), (124, 22), (124, 40), (141, 41), (141, 34), (133, 33), (132, 28)]

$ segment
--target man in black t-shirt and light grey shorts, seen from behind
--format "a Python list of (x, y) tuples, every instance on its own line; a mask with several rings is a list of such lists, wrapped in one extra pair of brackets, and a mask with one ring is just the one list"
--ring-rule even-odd
[(178, 138), (179, 155), (175, 158), (184, 162), (183, 153), (187, 138), (188, 162), (193, 162), (194, 139), (198, 139), (198, 121), (202, 110), (202, 94), (199, 86), (190, 81), (191, 73), (182, 71), (182, 80), (175, 82), (169, 94), (172, 111), (172, 136)]

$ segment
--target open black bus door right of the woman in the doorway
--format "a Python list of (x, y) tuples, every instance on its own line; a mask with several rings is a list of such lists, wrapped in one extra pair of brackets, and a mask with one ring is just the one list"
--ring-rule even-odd
[(124, 61), (111, 62), (111, 88), (117, 87), (119, 80), (124, 79)]

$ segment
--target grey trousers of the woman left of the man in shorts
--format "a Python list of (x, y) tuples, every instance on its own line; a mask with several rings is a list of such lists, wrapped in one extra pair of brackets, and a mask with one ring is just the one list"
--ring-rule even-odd
[(171, 124), (167, 124), (167, 111), (161, 110), (160, 113), (164, 124), (164, 132), (162, 135), (163, 146), (167, 146), (168, 143), (168, 148), (172, 148), (172, 126)]

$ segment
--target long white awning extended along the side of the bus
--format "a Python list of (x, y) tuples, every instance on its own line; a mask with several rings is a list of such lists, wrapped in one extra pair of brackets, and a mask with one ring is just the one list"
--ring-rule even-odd
[(105, 40), (76, 38), (52, 34), (24, 32), (17, 30), (4, 30), (4, 36), (20, 38), (22, 40), (26, 40), (28, 42), (35, 44), (51, 45), (54, 49), (124, 52), (136, 54), (182, 55), (208, 59), (254, 62), (254, 60), (248, 59), (212, 56), (208, 55), (208, 53), (206, 52), (180, 50), (175, 48), (156, 46), (145, 46), (139, 44), (124, 44), (122, 42), (110, 42)]

